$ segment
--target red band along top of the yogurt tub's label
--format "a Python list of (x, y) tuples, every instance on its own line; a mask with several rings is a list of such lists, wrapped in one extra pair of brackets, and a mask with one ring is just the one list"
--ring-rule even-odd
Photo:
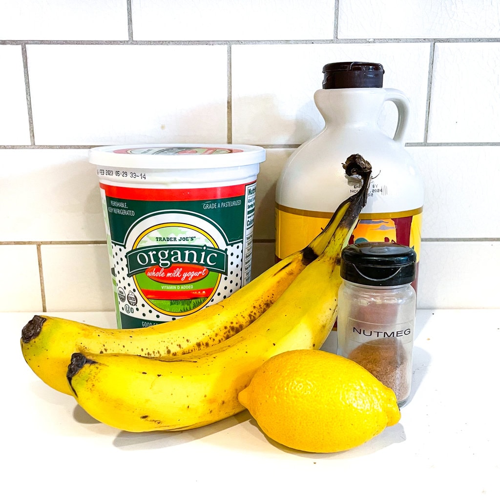
[(106, 196), (110, 198), (133, 199), (142, 201), (185, 201), (220, 199), (242, 196), (245, 184), (220, 187), (193, 187), (186, 189), (154, 189), (141, 187), (112, 186), (99, 183)]

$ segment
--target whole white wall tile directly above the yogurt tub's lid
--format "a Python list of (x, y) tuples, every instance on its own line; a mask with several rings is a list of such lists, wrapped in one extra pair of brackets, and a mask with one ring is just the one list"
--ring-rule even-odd
[(29, 45), (37, 144), (226, 142), (227, 49)]

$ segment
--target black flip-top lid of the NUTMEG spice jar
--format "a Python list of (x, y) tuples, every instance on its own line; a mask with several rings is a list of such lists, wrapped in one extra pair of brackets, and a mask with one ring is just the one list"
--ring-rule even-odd
[(351, 283), (397, 286), (414, 281), (416, 252), (384, 241), (348, 245), (342, 250), (340, 276)]

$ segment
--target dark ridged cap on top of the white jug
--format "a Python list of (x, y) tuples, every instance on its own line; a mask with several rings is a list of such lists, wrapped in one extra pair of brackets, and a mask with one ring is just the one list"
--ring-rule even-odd
[(323, 66), (323, 88), (380, 88), (383, 73), (378, 62), (330, 62)]

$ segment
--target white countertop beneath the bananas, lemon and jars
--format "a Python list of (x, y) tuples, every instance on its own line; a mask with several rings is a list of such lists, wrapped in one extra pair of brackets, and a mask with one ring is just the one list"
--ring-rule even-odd
[[(419, 310), (400, 422), (330, 454), (269, 441), (246, 411), (176, 432), (99, 423), (24, 362), (20, 331), (33, 314), (0, 313), (0, 470), (9, 500), (500, 498), (500, 309)], [(115, 326), (112, 312), (50, 315)]]

